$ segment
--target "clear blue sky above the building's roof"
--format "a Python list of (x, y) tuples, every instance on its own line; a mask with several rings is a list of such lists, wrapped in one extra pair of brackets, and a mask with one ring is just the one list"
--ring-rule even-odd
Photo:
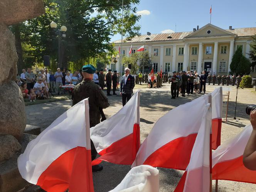
[[(222, 29), (256, 27), (256, 0), (141, 0), (138, 14), (140, 33), (193, 31), (210, 23)], [(121, 39), (117, 34), (111, 42)]]

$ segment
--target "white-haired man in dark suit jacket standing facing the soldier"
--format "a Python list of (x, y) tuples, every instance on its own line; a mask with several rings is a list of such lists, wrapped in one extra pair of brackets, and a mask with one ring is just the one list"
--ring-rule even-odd
[(131, 98), (131, 94), (133, 93), (133, 88), (135, 86), (135, 80), (132, 75), (130, 75), (130, 69), (125, 68), (125, 74), (122, 76), (121, 85), (120, 85), (120, 94), (122, 96), (123, 106), (125, 106), (126, 99), (127, 102)]

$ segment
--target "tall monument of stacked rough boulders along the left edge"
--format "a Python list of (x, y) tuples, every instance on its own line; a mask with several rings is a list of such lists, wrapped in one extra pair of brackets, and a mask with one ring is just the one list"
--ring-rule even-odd
[[(43, 0), (0, 1), (0, 192), (17, 191), (19, 187), (24, 187), (15, 186), (20, 184), (21, 177), (17, 182), (12, 180), (12, 177), (19, 177), (17, 170), (9, 175), (4, 174), (8, 173), (8, 161), (15, 161), (15, 155), (22, 150), (23, 131), (26, 126), (24, 99), (15, 83), (18, 60), (15, 37), (8, 25), (18, 24), (42, 13)], [(8, 179), (12, 180), (12, 184), (7, 182)]]

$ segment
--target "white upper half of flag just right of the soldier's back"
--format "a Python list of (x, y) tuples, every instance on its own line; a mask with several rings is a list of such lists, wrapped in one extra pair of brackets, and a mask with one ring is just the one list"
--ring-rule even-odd
[[(140, 91), (137, 91), (115, 115), (90, 129), (91, 140), (98, 153), (112, 143), (133, 133), (133, 125), (137, 123), (135, 118), (138, 113), (138, 94)], [(127, 129), (120, 131), (123, 126)]]

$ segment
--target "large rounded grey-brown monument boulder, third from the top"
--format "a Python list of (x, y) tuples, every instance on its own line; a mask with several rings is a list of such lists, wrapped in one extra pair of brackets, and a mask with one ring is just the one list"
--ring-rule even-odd
[(26, 127), (25, 104), (19, 86), (14, 81), (0, 85), (0, 133), (20, 140)]

